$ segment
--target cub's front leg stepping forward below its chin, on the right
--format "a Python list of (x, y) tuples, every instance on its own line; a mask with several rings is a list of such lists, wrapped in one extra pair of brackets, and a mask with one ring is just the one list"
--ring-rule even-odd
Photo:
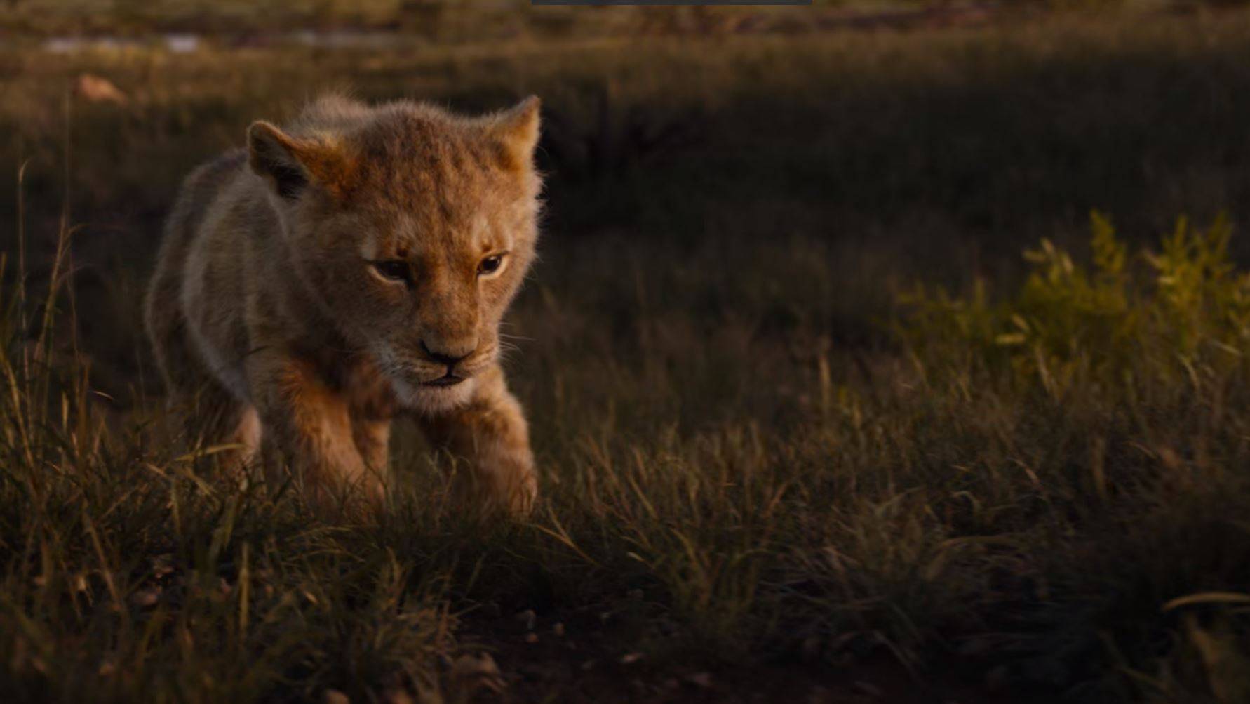
[(418, 423), (432, 444), (468, 463), (468, 475), (455, 478), (458, 496), (476, 498), (488, 513), (529, 515), (538, 496), (529, 426), (499, 366), (479, 376), (466, 405), (419, 416)]

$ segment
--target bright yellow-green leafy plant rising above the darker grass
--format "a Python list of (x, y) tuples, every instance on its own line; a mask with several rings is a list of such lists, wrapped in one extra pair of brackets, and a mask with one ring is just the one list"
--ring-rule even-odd
[(900, 335), (918, 361), (1010, 369), (995, 378), (1056, 399), (1078, 383), (1124, 388), (1135, 376), (1179, 375), (1198, 384), (1245, 371), (1250, 274), (1229, 258), (1226, 219), (1204, 230), (1181, 218), (1158, 251), (1130, 253), (1099, 213), (1091, 231), (1089, 264), (1044, 239), (1024, 253), (1030, 271), (1019, 290), (1000, 300), (980, 281), (968, 296), (904, 295)]

